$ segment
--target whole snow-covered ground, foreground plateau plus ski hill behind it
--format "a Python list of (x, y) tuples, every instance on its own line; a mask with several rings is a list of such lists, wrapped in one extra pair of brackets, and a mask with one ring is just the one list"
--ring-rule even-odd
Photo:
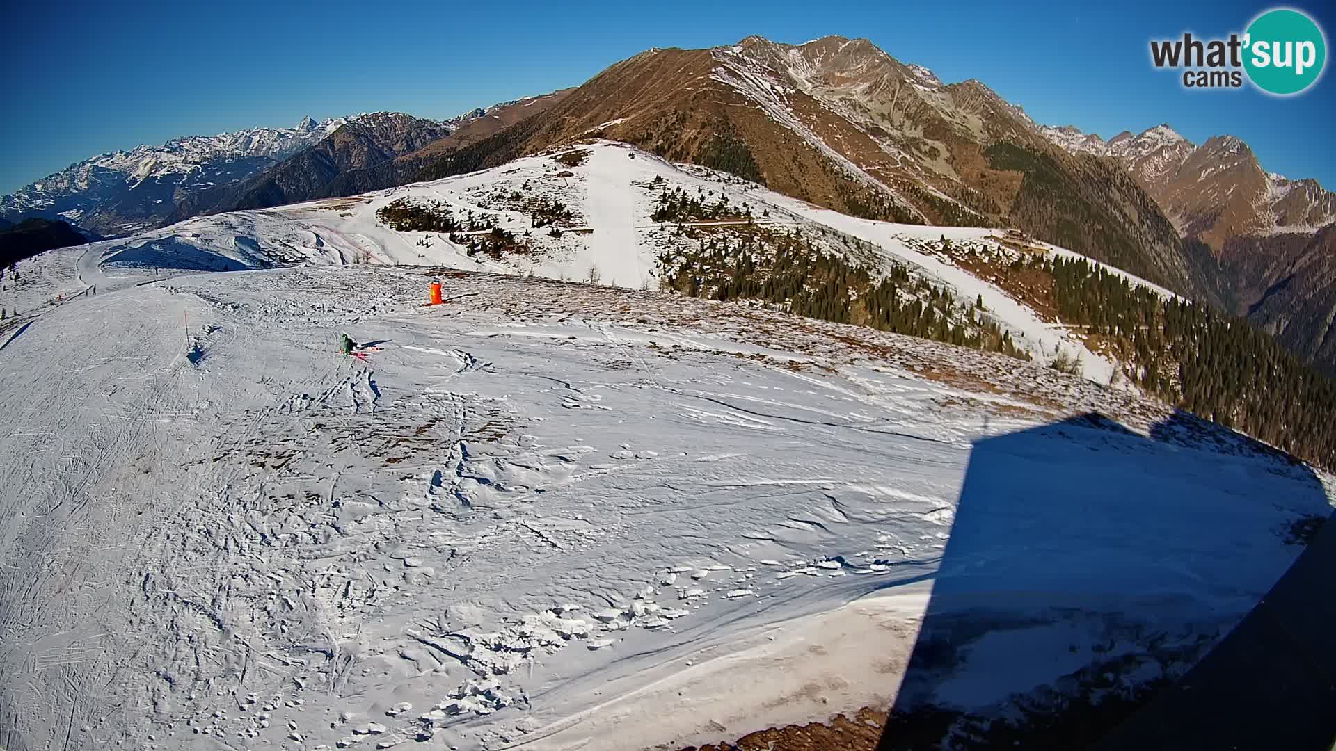
[[(1017, 716), (1182, 673), (1331, 513), (1325, 473), (1110, 388), (930, 247), (1005, 255), (998, 230), (580, 151), (5, 277), (0, 746), (593, 751), (910, 700)], [(665, 183), (982, 298), (1033, 361), (657, 291), (693, 242), (651, 219)], [(403, 199), (529, 250), (395, 231), (377, 211)], [(557, 202), (562, 230), (534, 227)], [(1063, 349), (1083, 378), (1045, 366)]]

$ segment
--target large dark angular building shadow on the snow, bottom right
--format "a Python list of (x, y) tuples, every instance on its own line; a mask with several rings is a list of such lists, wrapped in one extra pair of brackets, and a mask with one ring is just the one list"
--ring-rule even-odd
[[(1149, 438), (1092, 413), (977, 441), (878, 747), (1329, 748), (1331, 510), (1305, 465), (1186, 413)], [(1272, 628), (1234, 628), (1272, 585), (1288, 592)], [(1313, 597), (1321, 612), (1295, 616), (1309, 641), (1281, 641)]]

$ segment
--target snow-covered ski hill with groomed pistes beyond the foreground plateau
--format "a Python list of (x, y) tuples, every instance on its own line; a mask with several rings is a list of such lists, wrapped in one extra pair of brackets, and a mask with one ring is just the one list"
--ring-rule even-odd
[[(1022, 302), (950, 259), (922, 251), (926, 241), (947, 237), (1002, 250), (999, 230), (923, 227), (874, 222), (819, 208), (731, 175), (667, 163), (625, 144), (596, 142), (582, 164), (566, 166), (538, 155), (470, 175), (418, 183), (357, 198), (330, 199), (263, 211), (240, 211), (190, 219), (171, 227), (103, 243), (102, 263), (124, 266), (196, 266), (202, 269), (261, 267), (274, 263), (319, 265), (440, 265), (462, 270), (588, 279), (629, 289), (659, 289), (660, 254), (695, 250), (699, 241), (676, 234), (676, 224), (651, 219), (663, 187), (681, 187), (708, 200), (728, 196), (747, 206), (760, 226), (802, 229), (819, 247), (850, 253), (850, 238), (872, 243), (880, 258), (859, 262), (874, 269), (902, 265), (933, 283), (949, 287), (966, 303), (982, 298), (989, 315), (1007, 327), (1019, 346), (1038, 362), (1057, 353), (1081, 359), (1088, 378), (1108, 384), (1114, 365), (1089, 351), (1071, 331), (1042, 321)], [(566, 150), (569, 151), (569, 150)], [(655, 180), (660, 182), (655, 182)], [(530, 249), (492, 259), (469, 255), (445, 233), (401, 233), (377, 218), (377, 210), (398, 200), (438, 203), (458, 218), (469, 212), (514, 231)], [(560, 202), (573, 218), (560, 222), (564, 233), (533, 227), (534, 206)], [(768, 212), (768, 216), (764, 214)], [(743, 222), (733, 220), (733, 224)], [(700, 222), (727, 227), (729, 222)], [(525, 235), (528, 233), (528, 235)], [(1062, 249), (1051, 253), (1075, 255)], [(1136, 283), (1146, 282), (1129, 277)], [(1149, 285), (1148, 285), (1149, 286)]]

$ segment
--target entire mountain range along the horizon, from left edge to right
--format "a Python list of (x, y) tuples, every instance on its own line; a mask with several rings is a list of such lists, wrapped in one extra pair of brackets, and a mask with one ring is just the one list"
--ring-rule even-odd
[(123, 234), (476, 171), (592, 136), (846, 214), (1014, 226), (1246, 315), (1336, 371), (1336, 199), (1245, 143), (1041, 126), (978, 80), (864, 39), (649, 49), (585, 84), (446, 122), (378, 112), (102, 155), (0, 199)]

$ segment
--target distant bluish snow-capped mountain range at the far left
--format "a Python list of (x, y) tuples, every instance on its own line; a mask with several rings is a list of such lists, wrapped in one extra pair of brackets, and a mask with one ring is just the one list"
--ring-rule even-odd
[(235, 184), (346, 122), (306, 118), (293, 128), (186, 136), (102, 154), (0, 196), (0, 216), (64, 219), (103, 235), (146, 230), (191, 194)]

